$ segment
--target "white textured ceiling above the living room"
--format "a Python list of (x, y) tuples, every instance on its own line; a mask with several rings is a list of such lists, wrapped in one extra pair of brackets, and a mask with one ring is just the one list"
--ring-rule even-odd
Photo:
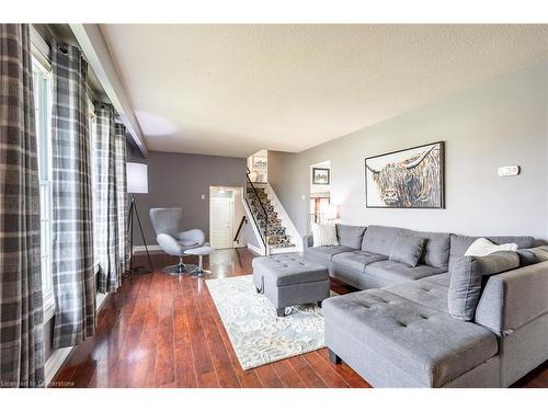
[(151, 150), (300, 151), (548, 57), (548, 25), (101, 25)]

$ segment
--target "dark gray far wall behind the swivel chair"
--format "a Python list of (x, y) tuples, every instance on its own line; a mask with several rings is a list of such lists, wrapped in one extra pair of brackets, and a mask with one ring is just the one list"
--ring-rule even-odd
[[(127, 160), (148, 164), (148, 194), (137, 196), (148, 244), (157, 243), (148, 216), (150, 208), (182, 207), (185, 229), (201, 228), (208, 238), (209, 186), (244, 186), (246, 159), (162, 151), (149, 151), (149, 158), (144, 159), (136, 147), (128, 146)], [(142, 246), (138, 229), (134, 224), (134, 244)], [(255, 242), (249, 225), (240, 243), (248, 241)]]

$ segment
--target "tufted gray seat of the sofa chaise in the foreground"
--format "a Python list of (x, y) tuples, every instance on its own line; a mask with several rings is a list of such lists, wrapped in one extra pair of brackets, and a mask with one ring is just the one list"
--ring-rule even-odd
[(481, 384), (498, 385), (496, 336), (483, 327), (387, 289), (329, 298), (323, 313), (328, 347), (374, 387), (443, 387), (480, 366), (491, 374)]

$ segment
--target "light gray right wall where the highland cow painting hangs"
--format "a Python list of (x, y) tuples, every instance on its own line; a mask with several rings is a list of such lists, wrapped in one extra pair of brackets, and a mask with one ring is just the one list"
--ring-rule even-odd
[[(269, 181), (301, 235), (309, 165), (331, 160), (331, 198), (343, 222), (546, 240), (547, 95), (545, 60), (299, 153), (270, 151)], [(365, 158), (437, 140), (446, 142), (445, 209), (365, 207)], [(522, 174), (499, 178), (498, 167), (510, 164)]]

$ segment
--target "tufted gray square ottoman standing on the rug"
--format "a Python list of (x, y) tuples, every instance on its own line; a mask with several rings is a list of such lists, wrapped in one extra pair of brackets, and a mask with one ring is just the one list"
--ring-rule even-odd
[(329, 273), (323, 265), (302, 260), (299, 254), (275, 254), (253, 259), (253, 281), (276, 307), (277, 316), (297, 304), (318, 302), (329, 297)]

